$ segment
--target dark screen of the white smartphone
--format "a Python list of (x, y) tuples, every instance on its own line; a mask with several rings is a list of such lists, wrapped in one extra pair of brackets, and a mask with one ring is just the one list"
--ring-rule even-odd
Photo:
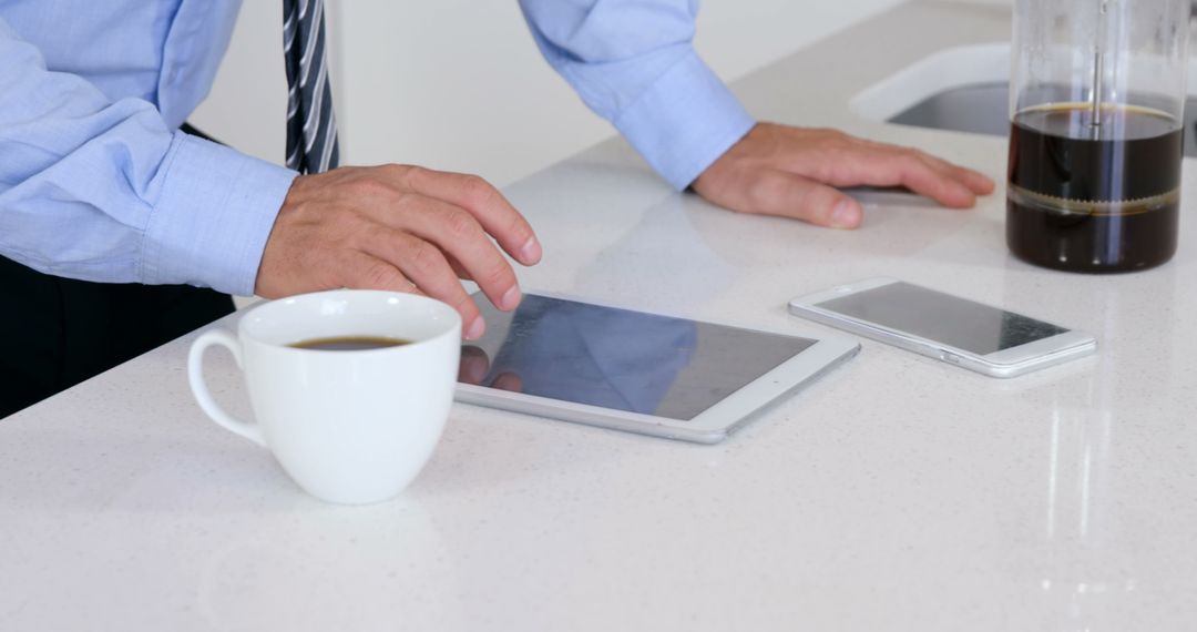
[(1063, 327), (903, 281), (824, 300), (815, 306), (978, 356), (1068, 332)]

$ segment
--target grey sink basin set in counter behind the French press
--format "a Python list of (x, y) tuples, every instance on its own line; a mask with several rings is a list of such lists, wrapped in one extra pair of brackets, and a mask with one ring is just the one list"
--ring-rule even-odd
[[(950, 87), (886, 118), (887, 122), (1005, 136), (1010, 133), (1009, 83)], [(1197, 99), (1185, 103), (1185, 156), (1197, 157)]]

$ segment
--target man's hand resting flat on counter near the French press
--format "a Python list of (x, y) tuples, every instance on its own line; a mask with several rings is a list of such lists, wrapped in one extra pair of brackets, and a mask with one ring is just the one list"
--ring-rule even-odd
[(742, 213), (855, 229), (861, 205), (836, 189), (904, 186), (952, 208), (968, 208), (994, 181), (918, 150), (882, 145), (834, 129), (759, 123), (694, 181), (694, 190)]

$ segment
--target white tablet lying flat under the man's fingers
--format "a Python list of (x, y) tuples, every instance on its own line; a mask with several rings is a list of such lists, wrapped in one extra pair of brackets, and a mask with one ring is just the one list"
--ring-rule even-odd
[(717, 443), (859, 350), (527, 294), (462, 346), (457, 401), (656, 437)]

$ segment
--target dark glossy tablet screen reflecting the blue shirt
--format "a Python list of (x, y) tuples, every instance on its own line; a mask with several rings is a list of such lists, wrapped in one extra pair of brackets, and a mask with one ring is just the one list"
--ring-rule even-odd
[(462, 346), (460, 381), (676, 420), (815, 344), (536, 294), (515, 312), (475, 298), (486, 335)]

